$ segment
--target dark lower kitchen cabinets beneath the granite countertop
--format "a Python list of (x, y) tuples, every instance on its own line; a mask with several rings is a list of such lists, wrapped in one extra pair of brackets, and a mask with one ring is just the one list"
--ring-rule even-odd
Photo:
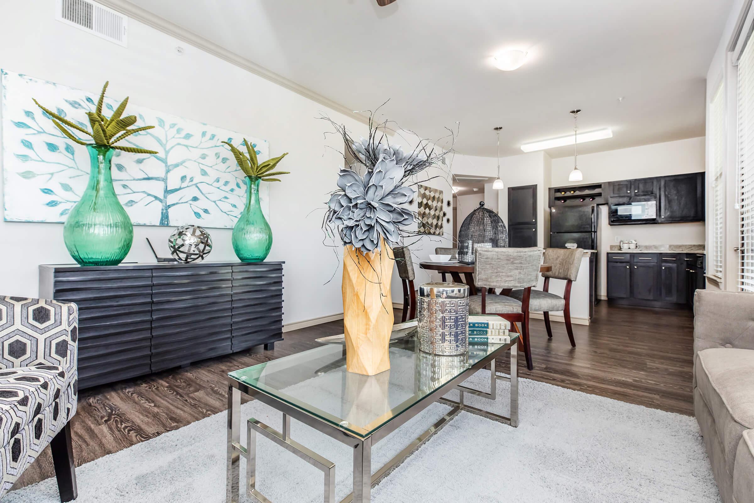
[(703, 255), (695, 254), (608, 253), (608, 302), (655, 308), (688, 308), (694, 291), (704, 287), (703, 267), (695, 267), (697, 257), (703, 264)]

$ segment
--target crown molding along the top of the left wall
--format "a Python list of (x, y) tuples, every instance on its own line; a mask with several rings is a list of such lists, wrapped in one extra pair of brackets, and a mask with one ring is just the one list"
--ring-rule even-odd
[(105, 5), (106, 7), (114, 9), (115, 11), (121, 12), (121, 14), (125, 14), (127, 17), (130, 17), (133, 20), (139, 21), (139, 23), (146, 24), (147, 26), (150, 26), (163, 33), (166, 33), (167, 35), (177, 38), (180, 41), (184, 41), (186, 44), (191, 44), (195, 48), (201, 49), (202, 51), (208, 54), (212, 54), (215, 57), (219, 57), (221, 60), (225, 60), (232, 65), (247, 70), (247, 72), (253, 73), (254, 75), (259, 75), (260, 77), (265, 78), (268, 81), (274, 82), (274, 84), (277, 84), (280, 87), (285, 87), (288, 90), (292, 90), (294, 93), (300, 94), (302, 97), (308, 98), (309, 100), (326, 106), (329, 109), (333, 109), (336, 112), (340, 112), (348, 117), (352, 117), (357, 121), (363, 122), (364, 124), (367, 124), (369, 121), (369, 119), (364, 115), (354, 112), (347, 106), (330, 100), (328, 97), (324, 97), (323, 95), (314, 92), (308, 87), (304, 87), (301, 84), (290, 80), (290, 78), (286, 78), (283, 75), (271, 72), (265, 67), (259, 66), (257, 63), (254, 63), (252, 60), (247, 60), (245, 57), (241, 57), (238, 54), (235, 54), (233, 51), (228, 51), (228, 49), (223, 48), (213, 41), (207, 40), (207, 38), (197, 35), (194, 32), (190, 32), (188, 29), (182, 28), (182, 26), (178, 26), (176, 23), (173, 23), (172, 21), (169, 21), (164, 17), (160, 17), (157, 14), (146, 11), (146, 9), (140, 8), (138, 5), (134, 5), (127, 0), (96, 1), (102, 5)]

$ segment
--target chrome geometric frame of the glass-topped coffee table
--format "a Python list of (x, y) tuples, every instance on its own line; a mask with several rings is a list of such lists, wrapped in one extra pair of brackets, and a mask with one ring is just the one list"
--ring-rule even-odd
[[(305, 425), (311, 426), (311, 428), (321, 431), (323, 434), (329, 437), (339, 440), (348, 446), (351, 446), (354, 452), (354, 492), (351, 492), (348, 496), (343, 498), (340, 503), (369, 503), (371, 501), (372, 486), (382, 480), (403, 462), (415, 449), (421, 444), (425, 443), (431, 438), (440, 428), (443, 428), (451, 419), (453, 419), (461, 410), (469, 413), (477, 414), (497, 422), (504, 423), (513, 427), (518, 426), (518, 372), (517, 372), (517, 339), (506, 345), (501, 345), (500, 348), (488, 354), (482, 360), (479, 360), (473, 366), (464, 370), (461, 374), (454, 379), (443, 385), (442, 388), (438, 388), (431, 394), (428, 394), (423, 399), (414, 403), (409, 409), (401, 413), (399, 416), (391, 419), (381, 428), (372, 431), (372, 434), (360, 437), (356, 434), (346, 431), (345, 429), (338, 428), (317, 416), (308, 413), (305, 410), (299, 409), (296, 406), (286, 403), (277, 397), (272, 397), (263, 391), (259, 391), (256, 388), (252, 388), (250, 385), (246, 385), (244, 382), (240, 382), (237, 379), (228, 377), (228, 455), (226, 463), (226, 503), (238, 502), (240, 484), (240, 464), (241, 456), (247, 459), (247, 473), (246, 473), (246, 491), (247, 495), (250, 495), (254, 500), (260, 503), (271, 503), (265, 495), (262, 495), (256, 489), (256, 434), (262, 434), (269, 440), (272, 440), (284, 449), (287, 449), (293, 454), (304, 459), (310, 465), (319, 468), (324, 474), (324, 503), (336, 503), (335, 501), (335, 464), (329, 460), (318, 455), (316, 452), (307, 449), (305, 446), (297, 443), (290, 438), (290, 419), (296, 419)], [(499, 357), (505, 351), (510, 350), (510, 377), (498, 376), (495, 373), (495, 358)], [(473, 388), (467, 388), (462, 386), (461, 382), (469, 379), (480, 370), (485, 367), (489, 367), (490, 370), (490, 391), (476, 390)], [(499, 380), (510, 382), (510, 418), (505, 416), (499, 416), (498, 414), (491, 413), (483, 409), (477, 409), (476, 407), (469, 406), (464, 403), (464, 393), (476, 394), (481, 397), (486, 397), (489, 400), (495, 400), (497, 397), (497, 391), (495, 382)], [(449, 400), (443, 395), (449, 391), (456, 389), (459, 391), (458, 401)], [(247, 446), (241, 445), (241, 393), (247, 394), (256, 400), (266, 403), (273, 409), (276, 409), (283, 413), (282, 432), (274, 430), (274, 428), (265, 425), (264, 423), (250, 418), (247, 421)], [(375, 474), (372, 473), (372, 445), (378, 443), (383, 438), (387, 437), (397, 428), (404, 425), (422, 410), (426, 409), (434, 402), (446, 403), (452, 406), (452, 409), (431, 426), (427, 431), (419, 435), (415, 440), (409, 443), (405, 449), (399, 452), (393, 459), (391, 459), (385, 466), (380, 468)], [(387, 415), (386, 415), (387, 416)], [(388, 419), (385, 417), (385, 419)], [(354, 425), (349, 425), (351, 429)], [(364, 431), (365, 434), (368, 431)]]

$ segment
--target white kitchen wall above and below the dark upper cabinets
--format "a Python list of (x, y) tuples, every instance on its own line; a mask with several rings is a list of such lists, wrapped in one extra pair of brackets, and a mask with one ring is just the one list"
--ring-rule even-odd
[[(704, 171), (704, 138), (579, 155), (578, 168), (584, 173), (584, 181), (578, 182), (579, 184)], [(568, 181), (571, 170), (573, 158), (553, 159), (550, 186), (575, 185), (574, 182)], [(611, 244), (618, 244), (621, 239), (634, 239), (639, 246), (704, 243), (704, 222), (608, 225), (607, 205), (603, 204), (599, 210), (597, 294), (601, 296), (605, 296), (606, 291), (604, 252)]]

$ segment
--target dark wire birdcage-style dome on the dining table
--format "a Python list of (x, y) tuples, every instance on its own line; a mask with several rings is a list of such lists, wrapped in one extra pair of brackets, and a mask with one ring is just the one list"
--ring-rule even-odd
[(458, 231), (458, 262), (474, 263), (477, 248), (504, 248), (508, 246), (508, 231), (503, 219), (492, 210), (479, 207), (469, 213)]

